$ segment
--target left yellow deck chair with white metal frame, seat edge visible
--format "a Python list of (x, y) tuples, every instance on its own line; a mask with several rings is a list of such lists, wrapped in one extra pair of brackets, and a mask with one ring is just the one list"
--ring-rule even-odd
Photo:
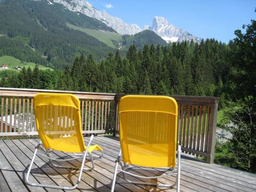
[[(73, 94), (38, 93), (34, 97), (34, 111), (36, 127), (39, 137), (41, 138), (41, 142), (39, 142), (35, 148), (35, 152), (26, 175), (26, 183), (31, 186), (38, 187), (50, 187), (66, 190), (75, 189), (81, 180), (83, 171), (90, 171), (94, 168), (93, 158), (100, 158), (103, 155), (101, 147), (98, 145), (91, 146), (93, 135), (87, 143), (87, 146), (84, 144), (79, 99)], [(42, 150), (45, 153), (39, 153)], [(69, 158), (53, 158), (51, 157), (51, 152), (53, 150), (63, 151), (67, 154), (66, 157), (68, 156)], [(92, 155), (93, 151), (98, 152), (93, 153)], [(36, 155), (42, 155), (49, 158), (51, 164), (56, 167), (79, 169), (77, 182), (71, 187), (30, 182), (29, 175)], [(87, 159), (89, 159), (92, 164), (92, 166), (87, 169), (84, 168), (86, 156), (88, 156)], [(74, 166), (63, 165), (63, 161), (71, 161), (77, 158), (83, 159), (81, 167), (76, 168)]]

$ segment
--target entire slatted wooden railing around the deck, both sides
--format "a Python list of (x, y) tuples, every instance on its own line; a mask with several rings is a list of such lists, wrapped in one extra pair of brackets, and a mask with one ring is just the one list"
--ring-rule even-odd
[[(118, 135), (116, 108), (123, 94), (0, 88), (0, 137), (37, 135), (34, 95), (39, 92), (72, 93), (81, 101), (84, 134)], [(178, 141), (185, 153), (213, 163), (217, 110), (215, 97), (172, 96), (178, 102)]]

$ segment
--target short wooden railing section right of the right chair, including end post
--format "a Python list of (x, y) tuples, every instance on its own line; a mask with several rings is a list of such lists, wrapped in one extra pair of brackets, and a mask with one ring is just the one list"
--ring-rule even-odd
[(213, 163), (219, 99), (173, 96), (178, 103), (178, 141), (186, 153)]

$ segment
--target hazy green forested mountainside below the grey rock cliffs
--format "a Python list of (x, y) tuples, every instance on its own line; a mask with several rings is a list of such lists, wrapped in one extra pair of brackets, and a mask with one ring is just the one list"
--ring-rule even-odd
[(0, 13), (0, 57), (9, 55), (52, 69), (71, 66), (81, 54), (102, 61), (121, 46), (123, 56), (132, 44), (138, 49), (145, 44), (167, 45), (153, 31), (122, 36), (97, 19), (47, 0), (2, 0)]

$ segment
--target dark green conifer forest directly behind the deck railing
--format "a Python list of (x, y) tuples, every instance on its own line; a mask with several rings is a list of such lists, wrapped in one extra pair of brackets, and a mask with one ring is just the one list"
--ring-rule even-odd
[(256, 172), (256, 21), (243, 28), (229, 44), (214, 39), (143, 49), (132, 44), (125, 55), (110, 51), (101, 61), (77, 55), (63, 69), (2, 70), (0, 86), (218, 97), (223, 111), (218, 127), (233, 137), (217, 141), (215, 163)]

